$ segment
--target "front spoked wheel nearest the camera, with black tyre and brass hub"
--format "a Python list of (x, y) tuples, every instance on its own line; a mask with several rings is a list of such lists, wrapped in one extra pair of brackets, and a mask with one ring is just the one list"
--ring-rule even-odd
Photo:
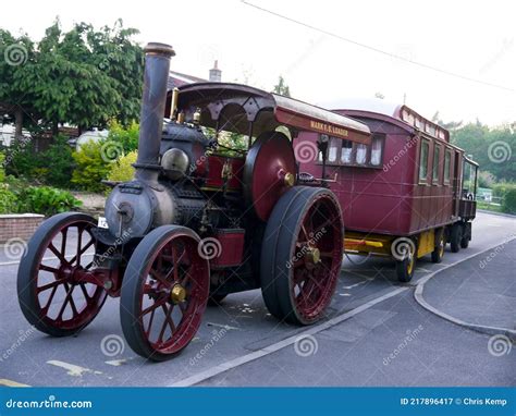
[(127, 343), (145, 358), (171, 358), (200, 326), (210, 279), (198, 244), (191, 229), (163, 225), (147, 234), (131, 257), (120, 317)]

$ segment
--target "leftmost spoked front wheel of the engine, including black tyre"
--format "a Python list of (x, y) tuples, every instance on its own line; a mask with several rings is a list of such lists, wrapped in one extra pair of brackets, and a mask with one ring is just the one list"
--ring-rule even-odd
[(97, 316), (103, 287), (75, 280), (94, 266), (96, 240), (93, 217), (65, 212), (45, 221), (27, 245), (17, 273), (17, 295), (25, 318), (38, 330), (65, 337)]

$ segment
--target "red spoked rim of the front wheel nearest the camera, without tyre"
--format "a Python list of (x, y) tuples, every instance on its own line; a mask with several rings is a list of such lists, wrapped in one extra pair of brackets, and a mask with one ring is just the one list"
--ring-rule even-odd
[[(145, 340), (161, 354), (183, 350), (197, 332), (208, 302), (208, 265), (198, 243), (177, 234), (161, 244), (143, 273), (138, 322)], [(174, 287), (185, 298), (174, 298)], [(181, 296), (180, 296), (181, 297)]]

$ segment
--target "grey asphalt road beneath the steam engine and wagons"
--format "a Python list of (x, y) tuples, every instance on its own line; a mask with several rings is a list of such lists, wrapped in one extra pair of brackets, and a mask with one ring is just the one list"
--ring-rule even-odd
[(409, 284), (397, 282), (386, 259), (353, 257), (358, 264), (352, 264), (345, 258), (328, 319), (314, 327), (278, 322), (260, 291), (231, 295), (221, 307), (208, 308), (180, 356), (159, 364), (136, 356), (123, 341), (118, 299), (109, 298), (76, 337), (54, 339), (34, 331), (17, 304), (17, 261), (0, 257), (0, 383), (515, 386), (515, 351), (489, 354), (490, 335), (437, 317), (413, 295), (420, 279), (489, 250), (515, 232), (514, 218), (480, 212), (469, 248), (457, 254), (447, 248), (440, 265), (420, 259)]

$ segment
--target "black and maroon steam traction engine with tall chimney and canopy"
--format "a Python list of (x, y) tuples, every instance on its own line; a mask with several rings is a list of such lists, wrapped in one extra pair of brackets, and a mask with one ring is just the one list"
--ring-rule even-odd
[[(292, 323), (322, 316), (341, 269), (342, 213), (328, 181), (297, 168), (296, 156), (315, 160), (327, 144), (298, 148), (295, 137), (369, 139), (361, 123), (247, 86), (168, 95), (172, 56), (167, 45), (146, 48), (134, 180), (114, 186), (103, 221), (78, 212), (45, 221), (17, 278), (23, 314), (56, 337), (121, 296), (128, 344), (153, 360), (184, 348), (208, 301), (232, 292), (261, 287), (270, 313)], [(245, 135), (248, 147), (225, 149), (224, 134)]]

